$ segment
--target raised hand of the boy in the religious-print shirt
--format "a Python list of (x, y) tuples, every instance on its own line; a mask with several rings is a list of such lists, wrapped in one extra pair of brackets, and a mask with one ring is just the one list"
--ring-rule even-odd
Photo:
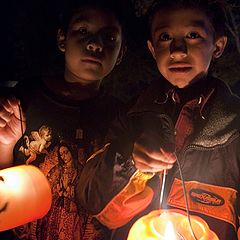
[(25, 131), (25, 117), (20, 115), (20, 109), (19, 100), (0, 99), (0, 168), (12, 165), (14, 146)]

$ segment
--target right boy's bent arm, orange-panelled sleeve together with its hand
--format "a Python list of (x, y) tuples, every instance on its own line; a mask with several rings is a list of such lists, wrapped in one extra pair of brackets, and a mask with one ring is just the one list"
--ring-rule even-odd
[(151, 203), (154, 192), (147, 182), (176, 160), (174, 154), (150, 146), (159, 136), (146, 132), (135, 136), (126, 130), (96, 152), (77, 184), (80, 204), (111, 229), (126, 224)]

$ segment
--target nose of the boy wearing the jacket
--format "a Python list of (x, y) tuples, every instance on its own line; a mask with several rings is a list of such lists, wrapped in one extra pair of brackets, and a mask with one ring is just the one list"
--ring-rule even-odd
[(185, 58), (187, 56), (187, 46), (184, 40), (173, 40), (170, 45), (170, 57), (172, 59)]

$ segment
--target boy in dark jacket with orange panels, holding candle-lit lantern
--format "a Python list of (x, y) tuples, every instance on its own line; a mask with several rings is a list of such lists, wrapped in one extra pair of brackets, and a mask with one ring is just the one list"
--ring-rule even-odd
[(159, 209), (164, 169), (161, 207), (186, 211), (178, 159), (190, 214), (220, 240), (237, 239), (240, 101), (209, 74), (227, 42), (224, 13), (216, 1), (176, 0), (155, 3), (149, 16), (148, 48), (163, 77), (128, 112), (122, 134), (89, 159), (78, 198), (114, 229), (112, 239), (127, 239), (139, 217)]

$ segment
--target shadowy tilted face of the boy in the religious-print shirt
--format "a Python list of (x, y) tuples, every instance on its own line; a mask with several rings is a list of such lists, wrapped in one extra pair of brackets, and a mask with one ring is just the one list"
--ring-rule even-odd
[(121, 61), (122, 29), (111, 12), (84, 7), (72, 17), (67, 34), (59, 32), (58, 45), (65, 52), (65, 72), (73, 76), (66, 80), (87, 84)]

